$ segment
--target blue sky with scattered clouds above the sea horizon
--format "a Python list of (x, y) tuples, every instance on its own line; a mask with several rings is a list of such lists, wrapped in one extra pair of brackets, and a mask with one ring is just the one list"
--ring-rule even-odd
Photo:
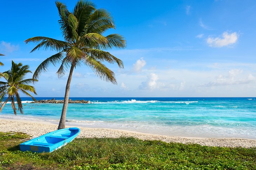
[[(3, 1), (0, 53), (32, 71), (54, 51), (29, 53), (34, 36), (62, 39), (55, 1)], [(63, 0), (73, 9), (76, 0)], [(94, 0), (112, 13), (126, 49), (109, 50), (124, 62), (118, 85), (76, 68), (70, 97), (249, 97), (256, 96), (256, 2), (254, 0), (117, 1)], [(38, 97), (63, 97), (67, 75), (58, 79), (51, 66), (34, 86)], [(28, 75), (28, 77), (31, 77)]]

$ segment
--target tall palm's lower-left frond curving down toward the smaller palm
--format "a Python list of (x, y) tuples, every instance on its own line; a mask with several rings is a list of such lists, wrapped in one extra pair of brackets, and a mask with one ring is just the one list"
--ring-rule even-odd
[(33, 75), (33, 79), (38, 79), (39, 78), (39, 75), (42, 73), (42, 72), (46, 72), (47, 71), (47, 68), (50, 64), (53, 64), (54, 66), (56, 64), (58, 64), (59, 62), (61, 62), (63, 58), (63, 54), (62, 52), (59, 52), (57, 54), (54, 54), (53, 56), (47, 58), (45, 61), (43, 61), (35, 70), (35, 73)]

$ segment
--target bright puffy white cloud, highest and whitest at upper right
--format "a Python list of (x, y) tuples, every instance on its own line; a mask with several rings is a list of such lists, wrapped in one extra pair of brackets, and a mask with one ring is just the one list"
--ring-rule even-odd
[(238, 40), (238, 34), (236, 32), (233, 33), (228, 33), (228, 32), (223, 32), (222, 38), (216, 37), (216, 38), (207, 38), (207, 43), (209, 44), (210, 47), (223, 47), (223, 46), (228, 46), (231, 44), (235, 44)]

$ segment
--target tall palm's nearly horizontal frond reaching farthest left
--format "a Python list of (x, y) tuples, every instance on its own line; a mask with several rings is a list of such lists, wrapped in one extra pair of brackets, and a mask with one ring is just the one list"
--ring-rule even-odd
[(39, 43), (36, 47), (31, 51), (34, 52), (35, 50), (39, 50), (43, 47), (44, 50), (50, 48), (50, 50), (62, 51), (68, 47), (68, 43), (65, 41), (49, 38), (49, 37), (32, 37), (25, 40), (25, 43), (28, 44), (29, 42)]

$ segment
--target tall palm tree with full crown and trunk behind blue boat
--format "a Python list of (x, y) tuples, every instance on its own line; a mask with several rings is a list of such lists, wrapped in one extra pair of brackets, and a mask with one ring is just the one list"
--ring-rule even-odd
[(101, 79), (117, 84), (114, 72), (102, 62), (117, 63), (120, 68), (123, 68), (122, 60), (105, 50), (113, 47), (124, 48), (126, 47), (126, 40), (119, 34), (102, 35), (106, 30), (115, 28), (115, 24), (110, 13), (105, 9), (96, 9), (94, 3), (80, 0), (72, 12), (69, 12), (66, 5), (59, 1), (56, 1), (55, 4), (59, 10), (59, 24), (64, 40), (33, 37), (25, 40), (25, 43), (38, 43), (31, 52), (41, 47), (58, 52), (44, 60), (36, 68), (33, 78), (38, 79), (39, 75), (45, 72), (50, 64), (54, 66), (58, 63), (61, 64), (56, 73), (58, 77), (63, 76), (65, 69), (70, 67), (58, 127), (58, 129), (62, 129), (65, 128), (69, 88), (74, 68), (83, 64), (92, 68)]

